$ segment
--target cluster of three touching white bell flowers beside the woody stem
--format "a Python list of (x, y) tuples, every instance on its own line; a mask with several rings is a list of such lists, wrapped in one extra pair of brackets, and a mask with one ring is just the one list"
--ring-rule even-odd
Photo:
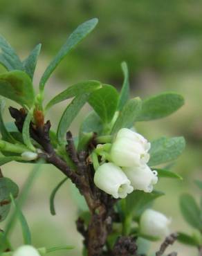
[(95, 185), (114, 198), (125, 198), (133, 190), (152, 192), (157, 172), (147, 165), (150, 143), (130, 129), (120, 129), (111, 145), (110, 163), (95, 172)]

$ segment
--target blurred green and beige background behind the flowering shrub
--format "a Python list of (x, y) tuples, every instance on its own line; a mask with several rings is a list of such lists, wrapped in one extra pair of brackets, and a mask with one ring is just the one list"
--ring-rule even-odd
[[(138, 123), (136, 128), (149, 140), (162, 135), (185, 136), (187, 147), (173, 168), (183, 176), (183, 181), (160, 181), (157, 188), (166, 195), (156, 201), (154, 208), (172, 217), (172, 230), (192, 232), (181, 217), (178, 195), (190, 192), (196, 200), (200, 197), (193, 181), (202, 180), (202, 1), (0, 0), (0, 33), (21, 58), (42, 43), (36, 85), (67, 35), (92, 17), (100, 20), (97, 28), (59, 65), (47, 84), (47, 100), (81, 80), (100, 80), (119, 89), (123, 60), (129, 66), (131, 97), (145, 98), (162, 91), (181, 93), (185, 97), (182, 109), (163, 120)], [(65, 105), (66, 102), (58, 104), (49, 113), (53, 127)], [(74, 122), (74, 134), (88, 109), (85, 107)], [(8, 113), (6, 118), (10, 120)], [(31, 168), (31, 165), (10, 163), (2, 170), (22, 185)], [(48, 210), (48, 196), (61, 179), (62, 174), (54, 167), (44, 167), (24, 205), (24, 213), (35, 246), (72, 244), (78, 248), (52, 255), (81, 255), (82, 237), (74, 223), (77, 206), (67, 184), (57, 194), (56, 217), (50, 216)], [(21, 242), (18, 226), (12, 240), (15, 245)], [(156, 243), (153, 248), (158, 246)], [(180, 256), (197, 255), (196, 250), (181, 244), (176, 243), (174, 249)]]

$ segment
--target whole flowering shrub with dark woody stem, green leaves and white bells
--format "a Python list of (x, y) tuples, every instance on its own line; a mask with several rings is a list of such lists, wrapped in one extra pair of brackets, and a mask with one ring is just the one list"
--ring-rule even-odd
[[(181, 95), (167, 92), (145, 100), (129, 98), (129, 74), (123, 62), (124, 81), (120, 93), (114, 86), (89, 80), (69, 86), (44, 106), (48, 78), (97, 23), (97, 19), (86, 21), (68, 37), (42, 75), (38, 94), (33, 87), (33, 75), (41, 45), (21, 61), (6, 39), (0, 37), (0, 62), (7, 69), (0, 75), (0, 165), (10, 161), (35, 165), (21, 196), (17, 184), (1, 173), (0, 221), (6, 219), (11, 206), (15, 209), (6, 229), (0, 232), (0, 250), (4, 256), (37, 256), (53, 250), (73, 249), (73, 246), (60, 245), (37, 249), (32, 246), (21, 207), (44, 163), (54, 165), (64, 174), (64, 179), (50, 195), (51, 214), (55, 214), (55, 194), (67, 179), (86, 201), (89, 210), (80, 211), (76, 221), (77, 230), (84, 238), (83, 255), (140, 255), (138, 245), (141, 238), (145, 238), (148, 241), (165, 239), (156, 252), (160, 256), (177, 238), (169, 230), (170, 219), (152, 210), (152, 203), (163, 196), (163, 192), (154, 190), (160, 178), (181, 179), (169, 170), (167, 163), (183, 152), (185, 140), (163, 137), (150, 143), (136, 132), (135, 125), (172, 114), (184, 104)], [(21, 106), (9, 107), (11, 123), (3, 121), (5, 98)], [(51, 120), (46, 120), (46, 113), (55, 104), (70, 98), (72, 101), (54, 131)], [(86, 103), (92, 110), (82, 121), (77, 138), (73, 138), (68, 129)], [(17, 218), (25, 245), (15, 250), (11, 246), (10, 232)], [(179, 237), (182, 241), (183, 233)]]

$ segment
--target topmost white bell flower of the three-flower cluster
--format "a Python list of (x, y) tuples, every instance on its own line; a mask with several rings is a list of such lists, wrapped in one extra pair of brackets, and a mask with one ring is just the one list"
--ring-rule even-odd
[(149, 161), (150, 143), (135, 131), (122, 128), (111, 146), (113, 163), (121, 167), (140, 166)]

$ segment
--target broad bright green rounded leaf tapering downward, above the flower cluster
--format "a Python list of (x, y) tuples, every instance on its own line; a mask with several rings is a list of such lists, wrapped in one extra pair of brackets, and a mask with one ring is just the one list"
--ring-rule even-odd
[(89, 104), (104, 123), (110, 122), (116, 112), (118, 92), (113, 86), (104, 84), (103, 88), (91, 93)]

